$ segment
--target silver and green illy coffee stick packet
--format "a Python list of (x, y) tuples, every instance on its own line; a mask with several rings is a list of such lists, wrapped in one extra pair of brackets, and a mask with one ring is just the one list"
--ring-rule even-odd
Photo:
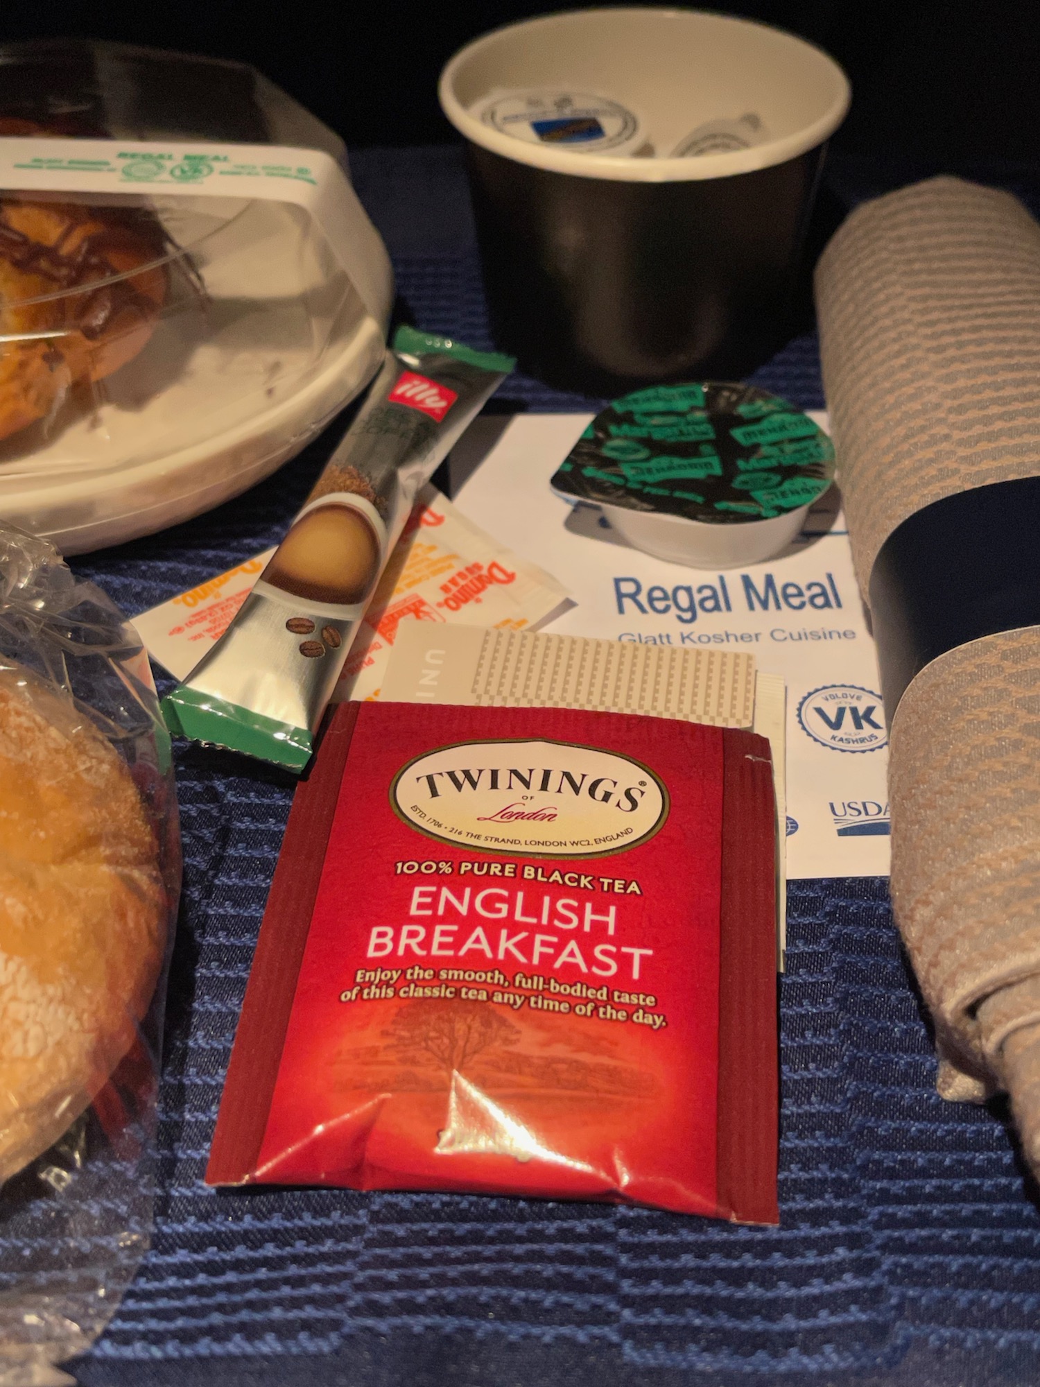
[(513, 368), (410, 327), (234, 620), (171, 695), (171, 731), (302, 770), (419, 488)]

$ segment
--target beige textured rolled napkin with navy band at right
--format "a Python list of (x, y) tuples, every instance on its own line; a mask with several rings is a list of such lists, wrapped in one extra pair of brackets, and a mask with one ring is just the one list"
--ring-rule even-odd
[(1040, 1172), (1040, 226), (930, 179), (853, 212), (815, 294), (939, 1092), (1005, 1089)]

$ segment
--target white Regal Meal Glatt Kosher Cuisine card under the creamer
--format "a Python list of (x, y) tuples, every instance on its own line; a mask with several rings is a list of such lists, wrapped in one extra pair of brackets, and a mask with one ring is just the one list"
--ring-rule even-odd
[[(452, 454), (455, 503), (548, 569), (577, 606), (546, 630), (746, 651), (788, 688), (788, 877), (889, 871), (887, 735), (874, 639), (835, 494), (782, 556), (702, 571), (630, 548), (596, 506), (549, 479), (589, 415), (483, 417)], [(826, 427), (826, 416), (814, 415)]]

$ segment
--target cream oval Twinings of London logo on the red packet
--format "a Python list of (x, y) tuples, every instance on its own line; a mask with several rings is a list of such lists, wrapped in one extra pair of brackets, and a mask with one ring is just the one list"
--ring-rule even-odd
[(394, 778), (394, 810), (456, 847), (602, 857), (646, 842), (668, 792), (641, 761), (571, 742), (458, 742)]

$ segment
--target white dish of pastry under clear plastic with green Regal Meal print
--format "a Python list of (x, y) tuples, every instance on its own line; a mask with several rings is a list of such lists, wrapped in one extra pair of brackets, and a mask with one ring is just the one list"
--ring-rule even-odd
[(0, 49), (0, 509), (67, 552), (241, 491), (381, 359), (343, 141), (251, 68)]

